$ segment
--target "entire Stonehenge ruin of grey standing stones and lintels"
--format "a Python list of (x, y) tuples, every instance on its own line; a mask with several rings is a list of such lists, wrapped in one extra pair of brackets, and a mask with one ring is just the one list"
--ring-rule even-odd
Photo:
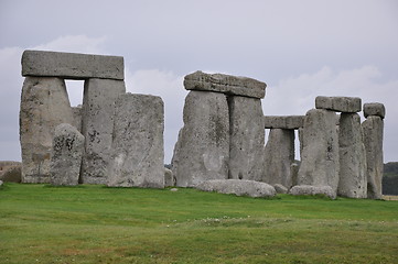
[[(265, 116), (265, 82), (195, 72), (169, 169), (163, 101), (126, 92), (122, 57), (25, 51), (22, 76), (22, 183), (381, 199), (383, 103), (320, 96), (305, 116)], [(84, 80), (82, 106), (65, 79)]]

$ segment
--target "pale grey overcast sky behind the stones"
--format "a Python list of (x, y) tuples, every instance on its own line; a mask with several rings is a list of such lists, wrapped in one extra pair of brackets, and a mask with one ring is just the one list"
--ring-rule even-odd
[[(265, 81), (265, 114), (305, 114), (316, 96), (383, 102), (385, 162), (398, 161), (398, 1), (0, 0), (0, 161), (20, 161), (24, 50), (125, 57), (130, 92), (165, 105), (170, 163), (195, 70)], [(82, 103), (83, 81), (67, 81)]]

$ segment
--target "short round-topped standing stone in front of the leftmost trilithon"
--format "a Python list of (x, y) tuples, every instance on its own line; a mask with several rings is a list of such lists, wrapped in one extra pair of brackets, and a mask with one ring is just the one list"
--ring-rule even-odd
[(84, 136), (75, 127), (62, 123), (55, 128), (51, 156), (51, 184), (78, 185)]

